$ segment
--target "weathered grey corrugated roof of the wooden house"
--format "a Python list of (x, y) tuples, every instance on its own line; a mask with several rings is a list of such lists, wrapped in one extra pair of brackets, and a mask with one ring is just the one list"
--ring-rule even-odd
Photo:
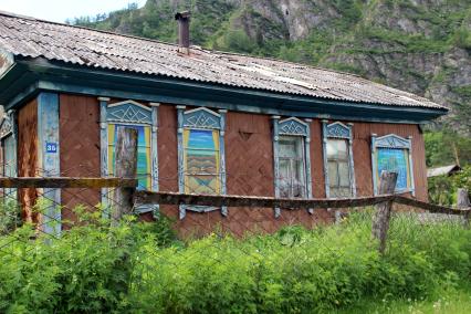
[(243, 88), (394, 106), (444, 108), (356, 75), (303, 64), (95, 31), (0, 11), (0, 48), (15, 56), (187, 78)]

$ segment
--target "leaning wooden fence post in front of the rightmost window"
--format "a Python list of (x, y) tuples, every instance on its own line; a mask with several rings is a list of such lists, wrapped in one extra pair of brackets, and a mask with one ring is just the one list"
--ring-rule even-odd
[[(391, 195), (395, 192), (397, 172), (383, 171), (379, 179), (379, 195)], [(375, 206), (371, 236), (379, 240), (379, 253), (386, 249), (386, 238), (389, 229), (389, 219), (393, 201), (384, 201)]]

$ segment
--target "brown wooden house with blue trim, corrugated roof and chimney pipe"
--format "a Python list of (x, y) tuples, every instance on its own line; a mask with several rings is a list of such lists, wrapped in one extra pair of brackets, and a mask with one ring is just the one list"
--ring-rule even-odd
[[(106, 177), (116, 129), (138, 130), (139, 187), (196, 193), (346, 198), (377, 193), (378, 174), (427, 200), (420, 124), (447, 108), (362, 77), (0, 13), (6, 176)], [(73, 219), (106, 191), (44, 191)], [(38, 191), (19, 190), (24, 219)], [(139, 206), (180, 230), (273, 231), (328, 221), (327, 210)], [(205, 214), (201, 214), (205, 212)], [(61, 228), (61, 226), (56, 227)], [(195, 231), (195, 232), (198, 232)]]

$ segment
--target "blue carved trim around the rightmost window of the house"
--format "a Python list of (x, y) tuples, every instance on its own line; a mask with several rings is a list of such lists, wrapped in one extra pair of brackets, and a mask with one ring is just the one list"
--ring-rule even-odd
[(410, 187), (407, 189), (396, 190), (398, 193), (410, 192), (412, 196), (416, 196), (416, 186), (414, 180), (414, 160), (412, 160), (412, 136), (407, 138), (400, 137), (396, 134), (388, 134), (385, 136), (378, 137), (377, 134), (371, 134), (371, 169), (373, 169), (373, 190), (375, 196), (378, 195), (378, 165), (377, 165), (377, 149), (378, 148), (400, 148), (407, 149), (408, 159), (409, 159), (409, 176), (410, 176)]

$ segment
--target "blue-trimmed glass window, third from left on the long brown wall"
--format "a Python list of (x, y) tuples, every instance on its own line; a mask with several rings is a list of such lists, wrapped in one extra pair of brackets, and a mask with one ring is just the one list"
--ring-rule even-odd
[[(282, 198), (312, 198), (310, 125), (295, 117), (273, 116), (274, 193)], [(308, 210), (313, 212), (311, 209)], [(281, 214), (274, 209), (275, 217)]]

